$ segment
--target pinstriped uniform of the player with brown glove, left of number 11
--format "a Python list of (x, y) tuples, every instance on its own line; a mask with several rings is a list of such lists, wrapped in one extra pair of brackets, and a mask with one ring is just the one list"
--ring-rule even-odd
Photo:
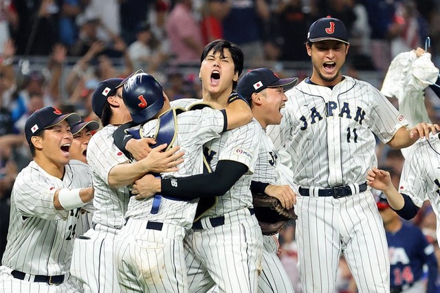
[[(274, 144), (272, 144), (272, 140), (267, 136), (265, 130), (261, 129), (261, 132), (260, 151), (252, 180), (269, 184), (281, 184), (276, 170), (278, 154), (274, 150)], [(278, 259), (277, 251), (278, 246), (275, 239), (272, 236), (263, 235), (263, 258), (261, 262), (263, 271), (259, 277), (259, 292), (261, 293), (294, 292), (289, 275), (287, 275), (283, 263)]]

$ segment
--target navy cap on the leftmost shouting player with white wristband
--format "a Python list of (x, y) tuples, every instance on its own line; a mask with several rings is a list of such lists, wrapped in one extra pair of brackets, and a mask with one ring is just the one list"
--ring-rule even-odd
[(34, 111), (25, 123), (26, 140), (30, 144), (32, 136), (37, 135), (43, 131), (43, 129), (54, 127), (56, 124), (61, 123), (64, 120), (72, 126), (72, 124), (81, 120), (81, 116), (78, 113), (63, 114), (55, 107), (44, 107)]

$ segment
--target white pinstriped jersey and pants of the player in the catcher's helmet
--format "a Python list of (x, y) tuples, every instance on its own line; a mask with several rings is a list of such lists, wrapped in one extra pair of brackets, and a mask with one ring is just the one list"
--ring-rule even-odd
[[(153, 137), (157, 121), (142, 126), (144, 137)], [(218, 138), (224, 116), (208, 107), (177, 116), (174, 145), (185, 151), (179, 171), (164, 177), (203, 173), (203, 144)], [(194, 221), (198, 199), (178, 201), (162, 197), (158, 213), (151, 213), (153, 197), (131, 197), (126, 225), (116, 238), (115, 263), (122, 292), (188, 292), (184, 235)], [(161, 230), (147, 229), (148, 221), (162, 223)]]

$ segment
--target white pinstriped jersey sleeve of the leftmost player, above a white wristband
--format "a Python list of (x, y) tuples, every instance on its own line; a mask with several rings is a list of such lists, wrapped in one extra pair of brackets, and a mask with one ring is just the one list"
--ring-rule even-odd
[(39, 217), (45, 220), (66, 219), (69, 210), (57, 210), (54, 195), (59, 187), (37, 171), (30, 171), (32, 177), (17, 177), (12, 191), (17, 210), (23, 217)]

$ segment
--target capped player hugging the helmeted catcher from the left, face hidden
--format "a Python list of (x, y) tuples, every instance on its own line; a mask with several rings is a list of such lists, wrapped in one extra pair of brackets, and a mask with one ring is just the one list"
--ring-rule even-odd
[(120, 292), (113, 265), (113, 239), (124, 225), (124, 213), (129, 202), (128, 185), (150, 171), (175, 171), (175, 147), (161, 153), (161, 145), (134, 164), (113, 144), (113, 132), (119, 125), (131, 121), (122, 100), (122, 78), (103, 80), (92, 96), (92, 107), (103, 128), (96, 132), (87, 147), (87, 163), (95, 188), (92, 228), (76, 239), (71, 273), (83, 285), (85, 292)]

